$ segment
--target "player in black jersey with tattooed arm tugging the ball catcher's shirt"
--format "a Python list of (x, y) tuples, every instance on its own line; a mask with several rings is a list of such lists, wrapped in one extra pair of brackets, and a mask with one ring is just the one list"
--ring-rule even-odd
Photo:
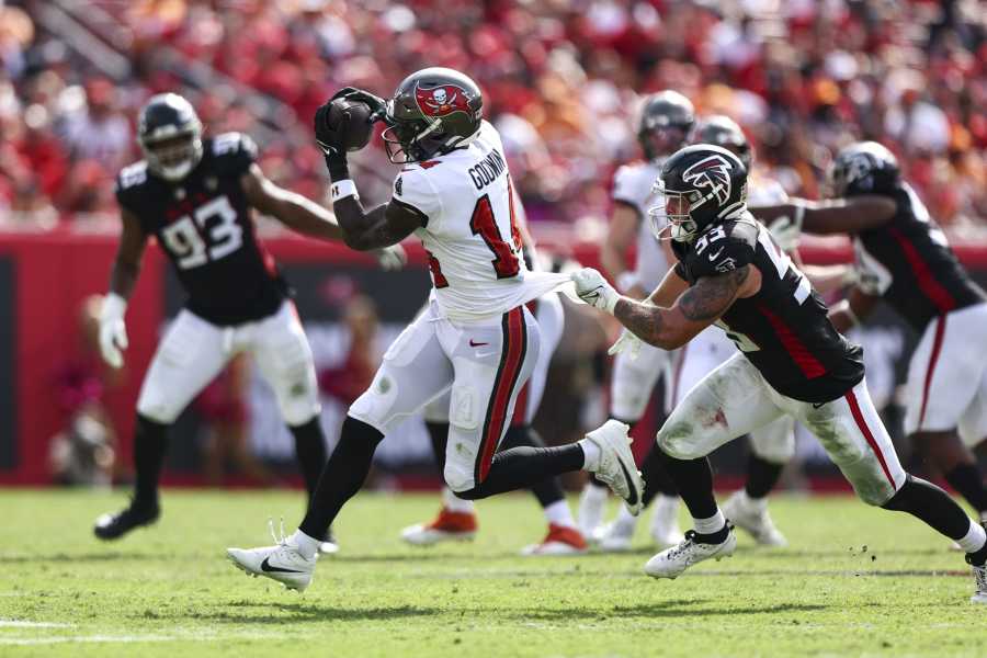
[(667, 467), (694, 530), (645, 566), (676, 578), (695, 563), (734, 553), (737, 541), (713, 497), (706, 455), (782, 415), (801, 421), (870, 504), (906, 511), (967, 553), (987, 602), (987, 532), (945, 491), (905, 473), (871, 402), (859, 347), (832, 326), (812, 284), (747, 209), (747, 171), (726, 149), (687, 147), (661, 170), (679, 263), (645, 302), (617, 293), (595, 270), (574, 273), (576, 291), (640, 339), (680, 348), (711, 324), (739, 353), (696, 385), (658, 432)]

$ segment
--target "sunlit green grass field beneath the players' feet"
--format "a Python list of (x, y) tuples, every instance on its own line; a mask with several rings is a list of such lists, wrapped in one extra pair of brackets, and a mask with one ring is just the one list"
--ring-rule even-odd
[(358, 497), (342, 552), (304, 594), (250, 579), (229, 545), (298, 521), (297, 492), (167, 491), (150, 530), (99, 543), (122, 494), (0, 491), (0, 656), (984, 656), (987, 609), (962, 556), (904, 514), (850, 498), (779, 497), (792, 546), (737, 554), (674, 581), (653, 551), (522, 558), (534, 502), (479, 503), (470, 544), (404, 546), (432, 496)]

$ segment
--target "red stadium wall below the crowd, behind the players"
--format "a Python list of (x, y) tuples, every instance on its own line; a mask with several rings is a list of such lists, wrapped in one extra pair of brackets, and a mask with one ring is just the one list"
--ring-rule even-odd
[[(374, 266), (374, 261), (343, 247), (294, 237), (265, 240), (282, 263), (328, 261), (348, 268)], [(808, 262), (846, 261), (846, 243), (803, 249)], [(116, 238), (56, 231), (45, 235), (0, 234), (0, 484), (37, 485), (49, 481), (50, 438), (64, 422), (54, 381), (59, 368), (80, 351), (79, 310), (82, 300), (106, 290)], [(597, 263), (598, 247), (579, 245), (574, 256)], [(963, 261), (987, 273), (987, 243), (957, 249)], [(422, 253), (411, 253), (423, 266)], [(134, 405), (140, 379), (158, 342), (164, 317), (167, 261), (151, 247), (127, 313), (129, 349), (121, 382), (107, 388), (105, 404), (120, 434), (118, 458), (131, 463)], [(399, 274), (394, 275), (399, 282)], [(9, 293), (4, 294), (4, 287)], [(5, 350), (5, 352), (4, 352)], [(4, 363), (10, 361), (10, 363)]]

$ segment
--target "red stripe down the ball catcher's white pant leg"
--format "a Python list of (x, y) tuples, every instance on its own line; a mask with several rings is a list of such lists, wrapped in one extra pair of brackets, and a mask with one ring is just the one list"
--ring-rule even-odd
[(507, 422), (507, 408), (511, 400), (511, 393), (521, 374), (521, 365), (526, 351), (527, 336), (524, 328), (524, 313), (519, 307), (508, 311), (506, 316), (503, 344), (501, 345), (503, 356), (494, 382), (490, 402), (487, 406), (487, 418), (484, 422), (478, 460), (474, 469), (476, 484), (484, 481), (490, 472), (490, 463), (494, 461), (497, 443), (500, 441), (503, 426)]

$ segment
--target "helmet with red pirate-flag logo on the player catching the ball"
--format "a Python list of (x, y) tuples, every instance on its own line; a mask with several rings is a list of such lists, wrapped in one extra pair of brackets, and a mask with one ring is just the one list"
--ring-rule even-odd
[(387, 157), (420, 162), (465, 146), (479, 133), (483, 116), (483, 93), (468, 76), (441, 67), (411, 73), (387, 101)]

